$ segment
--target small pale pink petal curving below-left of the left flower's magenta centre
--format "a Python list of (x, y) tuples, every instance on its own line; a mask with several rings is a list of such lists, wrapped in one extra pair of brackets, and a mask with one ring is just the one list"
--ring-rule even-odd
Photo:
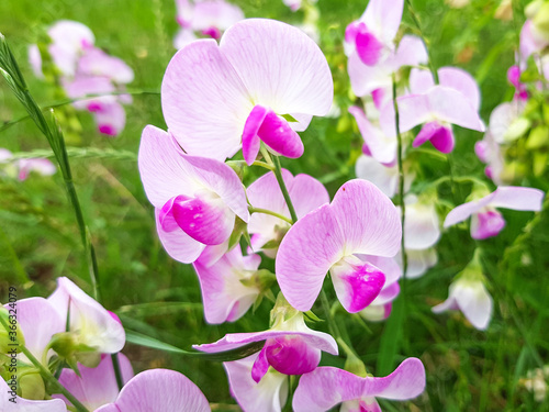
[(180, 230), (175, 220), (167, 227), (163, 220), (160, 220), (163, 216), (160, 209), (155, 208), (155, 215), (158, 237), (168, 255), (183, 264), (191, 264), (197, 260), (202, 250), (204, 250), (205, 245)]

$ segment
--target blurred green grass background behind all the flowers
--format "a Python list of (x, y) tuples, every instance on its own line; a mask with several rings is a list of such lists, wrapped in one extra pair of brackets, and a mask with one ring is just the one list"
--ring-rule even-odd
[[(272, 18), (299, 23), (303, 13), (292, 13), (282, 1), (235, 1), (246, 16)], [(348, 107), (348, 78), (341, 41), (345, 26), (357, 19), (366, 1), (318, 0), (322, 48), (335, 79), (336, 98)], [(505, 74), (514, 62), (518, 31), (524, 22), (524, 2), (515, 1), (515, 19), (493, 19), (498, 1), (473, 0), (463, 9), (451, 9), (440, 0), (412, 1), (423, 25), (432, 58), (437, 67), (457, 65), (470, 71), (482, 90), (481, 114), (488, 122), (492, 109), (509, 100), (513, 89)], [(134, 70), (130, 89), (134, 103), (126, 108), (127, 124), (116, 138), (96, 132), (91, 116), (78, 112), (81, 133), (69, 137), (70, 146), (136, 154), (146, 124), (166, 127), (158, 94), (164, 70), (176, 52), (171, 40), (177, 31), (171, 0), (8, 0), (0, 2), (0, 32), (8, 38), (22, 66), (31, 92), (42, 105), (59, 100), (53, 88), (36, 79), (26, 60), (26, 47), (59, 19), (77, 20), (96, 34), (96, 44), (123, 58)], [(414, 25), (404, 13), (404, 30)], [(61, 112), (67, 108), (61, 109)], [(0, 81), (0, 122), (25, 114)], [(1, 126), (0, 126), (1, 127)], [(282, 160), (292, 172), (324, 177), (333, 194), (354, 177), (354, 160), (361, 141), (349, 115), (339, 120), (315, 119), (303, 135), (305, 155)], [(483, 166), (473, 154), (482, 134), (457, 131), (452, 155), (457, 176), (483, 176)], [(0, 131), (0, 147), (12, 152), (47, 148), (47, 142), (30, 121)], [(124, 153), (126, 153), (124, 152)], [(112, 153), (112, 152), (111, 152)], [(159, 244), (153, 208), (141, 185), (136, 163), (104, 153), (72, 158), (75, 183), (92, 234), (100, 268), (103, 304), (116, 311), (126, 327), (155, 336), (182, 348), (212, 342), (228, 332), (268, 327), (270, 304), (264, 302), (256, 314), (248, 313), (234, 324), (219, 326), (204, 322), (200, 288), (191, 266), (170, 259)], [(131, 157), (131, 156), (130, 156)], [(421, 179), (434, 180), (449, 172), (446, 162), (421, 157)], [(256, 170), (245, 176), (255, 179)], [(547, 191), (547, 180), (524, 181)], [(457, 203), (464, 201), (469, 188), (457, 190)], [(451, 187), (442, 186), (442, 198), (451, 199)], [(548, 411), (549, 402), (537, 403), (518, 385), (526, 371), (549, 352), (549, 257), (547, 212), (537, 218), (533, 230), (512, 246), (533, 213), (504, 211), (507, 227), (482, 242), (490, 291), (494, 297), (494, 318), (488, 332), (472, 329), (459, 313), (434, 315), (430, 308), (446, 299), (452, 277), (472, 257), (475, 243), (463, 227), (445, 233), (437, 250), (439, 264), (424, 277), (406, 282), (406, 307), (399, 321), (366, 324), (358, 318), (336, 313), (347, 326), (349, 337), (370, 372), (382, 372), (383, 365), (407, 356), (421, 357), (427, 369), (427, 390), (412, 402), (384, 402), (386, 411)], [(516, 242), (515, 242), (516, 243)], [(266, 267), (269, 263), (264, 259)], [(26, 181), (0, 177), (0, 299), (10, 285), (19, 298), (47, 296), (55, 278), (67, 276), (91, 292), (83, 253), (72, 210), (67, 201), (60, 174), (53, 178), (32, 175)], [(333, 294), (332, 287), (327, 287)], [(400, 304), (400, 303), (399, 303)], [(320, 308), (317, 313), (322, 318)], [(326, 330), (325, 323), (315, 325)], [(402, 344), (396, 356), (388, 358), (386, 345), (396, 335)], [(390, 350), (389, 350), (390, 352)], [(192, 379), (217, 410), (234, 410), (221, 364), (182, 358), (154, 349), (127, 345), (124, 353), (136, 371), (154, 367), (179, 370)], [(380, 359), (383, 360), (380, 360)], [(538, 360), (537, 360), (538, 359)], [(343, 366), (344, 358), (324, 357), (324, 364)]]

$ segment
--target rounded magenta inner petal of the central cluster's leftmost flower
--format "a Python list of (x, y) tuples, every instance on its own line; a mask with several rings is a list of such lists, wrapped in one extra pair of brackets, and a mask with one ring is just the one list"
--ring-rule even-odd
[(217, 198), (176, 198), (171, 213), (181, 230), (205, 245), (219, 245), (233, 232), (235, 215)]

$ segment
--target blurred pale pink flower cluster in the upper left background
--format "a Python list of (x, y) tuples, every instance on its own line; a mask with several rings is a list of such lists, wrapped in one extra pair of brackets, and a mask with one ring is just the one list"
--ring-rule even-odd
[[(65, 94), (76, 100), (72, 105), (92, 113), (100, 133), (120, 134), (126, 123), (122, 104), (132, 102), (131, 96), (123, 93), (124, 85), (133, 81), (133, 70), (122, 59), (94, 46), (93, 33), (82, 23), (60, 20), (48, 29), (47, 35), (51, 43), (29, 48), (35, 75), (44, 78), (49, 67), (45, 63), (53, 63), (54, 76)], [(83, 99), (90, 94), (100, 96)]]

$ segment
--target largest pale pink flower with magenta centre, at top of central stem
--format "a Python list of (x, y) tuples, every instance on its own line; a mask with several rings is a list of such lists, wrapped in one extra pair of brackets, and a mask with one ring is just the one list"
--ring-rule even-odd
[(326, 58), (306, 34), (249, 19), (231, 26), (220, 45), (200, 40), (180, 49), (166, 70), (161, 101), (188, 154), (225, 160), (243, 147), (250, 165), (261, 142), (276, 154), (300, 157), (295, 131), (328, 112), (333, 92)]

